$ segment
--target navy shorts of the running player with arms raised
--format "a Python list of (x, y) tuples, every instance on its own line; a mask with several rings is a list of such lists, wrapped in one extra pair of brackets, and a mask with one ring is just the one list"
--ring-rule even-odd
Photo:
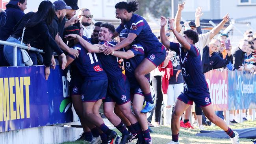
[(210, 93), (208, 87), (205, 85), (194, 88), (184, 85), (182, 92), (178, 96), (178, 100), (189, 105), (193, 105), (193, 102), (195, 102), (200, 107), (206, 107), (211, 104)]

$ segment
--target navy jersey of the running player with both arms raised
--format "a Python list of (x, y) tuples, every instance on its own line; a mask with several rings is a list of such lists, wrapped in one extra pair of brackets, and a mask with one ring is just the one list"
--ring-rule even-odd
[(174, 42), (170, 42), (170, 49), (175, 51), (180, 57), (182, 76), (187, 87), (205, 85), (206, 80), (203, 73), (199, 49), (191, 44), (190, 50), (184, 52), (184, 48), (181, 44)]

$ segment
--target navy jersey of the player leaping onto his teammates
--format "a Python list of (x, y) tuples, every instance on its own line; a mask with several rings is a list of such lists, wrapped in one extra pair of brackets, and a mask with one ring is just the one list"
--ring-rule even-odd
[(116, 31), (120, 33), (124, 28), (130, 30), (130, 33), (137, 35), (134, 43), (142, 44), (146, 54), (152, 50), (159, 51), (161, 49), (161, 42), (159, 42), (156, 35), (152, 33), (148, 22), (143, 17), (133, 14), (132, 18), (124, 24), (121, 23)]

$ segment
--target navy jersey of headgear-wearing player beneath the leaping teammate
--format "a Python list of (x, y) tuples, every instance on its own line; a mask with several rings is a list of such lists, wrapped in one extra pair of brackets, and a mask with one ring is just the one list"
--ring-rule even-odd
[[(124, 68), (125, 68), (125, 75), (130, 81), (131, 87), (134, 85), (138, 85), (137, 80), (134, 76), (134, 71), (137, 68), (137, 66), (143, 61), (145, 58), (144, 54), (144, 48), (141, 44), (133, 44), (132, 48), (128, 49), (131, 50), (134, 53), (134, 57), (130, 59), (124, 59)], [(125, 50), (123, 48), (123, 51), (127, 52), (128, 50)]]

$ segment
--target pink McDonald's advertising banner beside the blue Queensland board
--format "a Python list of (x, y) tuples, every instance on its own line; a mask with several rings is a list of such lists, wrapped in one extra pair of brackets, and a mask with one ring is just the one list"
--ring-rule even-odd
[(228, 109), (228, 70), (211, 70), (205, 73), (211, 102), (215, 111)]

